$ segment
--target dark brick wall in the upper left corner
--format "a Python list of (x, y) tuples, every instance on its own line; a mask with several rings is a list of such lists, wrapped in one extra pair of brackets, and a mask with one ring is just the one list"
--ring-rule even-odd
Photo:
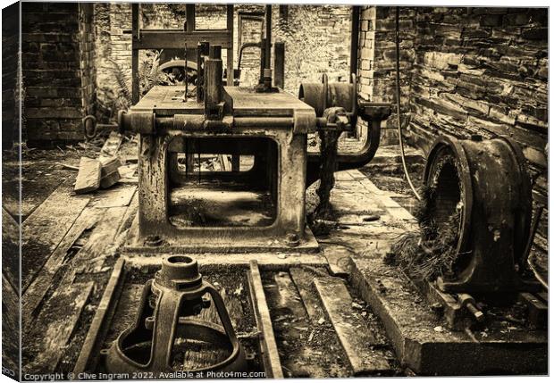
[(92, 4), (23, 3), (23, 134), (29, 146), (83, 139), (95, 108)]

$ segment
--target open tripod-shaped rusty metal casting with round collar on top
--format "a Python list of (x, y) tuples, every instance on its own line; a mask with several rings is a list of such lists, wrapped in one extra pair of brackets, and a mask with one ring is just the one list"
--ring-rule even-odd
[[(211, 301), (206, 300), (206, 295)], [(192, 318), (212, 303), (221, 326)], [(134, 325), (113, 343), (106, 356), (106, 369), (112, 373), (153, 372), (155, 376), (161, 372), (183, 371), (175, 367), (178, 362), (174, 361), (179, 340), (214, 344), (225, 351), (222, 360), (190, 371), (247, 370), (244, 350), (222, 296), (202, 279), (195, 260), (173, 255), (164, 259), (155, 279), (145, 285), (139, 315)]]

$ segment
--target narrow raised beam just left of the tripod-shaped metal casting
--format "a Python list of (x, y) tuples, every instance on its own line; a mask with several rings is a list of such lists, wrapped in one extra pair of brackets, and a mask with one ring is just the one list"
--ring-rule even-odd
[(122, 285), (124, 266), (125, 260), (122, 258), (120, 258), (117, 263), (115, 263), (115, 266), (113, 266), (112, 275), (107, 286), (105, 287), (104, 295), (100, 300), (100, 304), (98, 304), (97, 312), (90, 323), (87, 337), (85, 338), (85, 342), (80, 349), (79, 358), (73, 367), (75, 375), (79, 375), (81, 372), (87, 371), (94, 356), (93, 352), (97, 352), (97, 347), (100, 346), (97, 344), (98, 335), (101, 332), (105, 334), (107, 331), (107, 329), (105, 329), (106, 317), (108, 312), (113, 309), (113, 305), (116, 302), (115, 296), (117, 295), (118, 288)]

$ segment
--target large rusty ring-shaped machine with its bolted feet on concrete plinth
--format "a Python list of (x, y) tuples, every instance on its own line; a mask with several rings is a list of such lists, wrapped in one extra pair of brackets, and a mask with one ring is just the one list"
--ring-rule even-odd
[(518, 302), (531, 312), (533, 326), (544, 325), (546, 306), (534, 304), (543, 302), (542, 287), (527, 267), (536, 229), (530, 179), (521, 148), (508, 137), (439, 137), (433, 144), (424, 171), (432, 190), (424, 224), (440, 231), (458, 225), (449, 228), (457, 230), (457, 258), (450, 275), (425, 283), (424, 291), (450, 327), (466, 326), (467, 317), (484, 321), (478, 302)]

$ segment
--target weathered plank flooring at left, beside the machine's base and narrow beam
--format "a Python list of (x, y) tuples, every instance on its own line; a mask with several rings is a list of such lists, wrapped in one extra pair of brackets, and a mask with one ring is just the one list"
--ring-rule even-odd
[(62, 185), (24, 222), (23, 256), (33, 249), (23, 273), (24, 371), (75, 362), (137, 210), (136, 189), (120, 184), (77, 196)]

